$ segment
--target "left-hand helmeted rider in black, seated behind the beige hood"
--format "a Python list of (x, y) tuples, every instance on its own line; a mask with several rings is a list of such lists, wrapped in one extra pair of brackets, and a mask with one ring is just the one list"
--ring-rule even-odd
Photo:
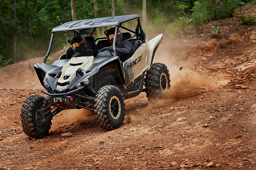
[(91, 49), (87, 49), (84, 36), (74, 34), (73, 37), (68, 40), (68, 42), (71, 44), (71, 47), (75, 52), (75, 54), (72, 55), (71, 58), (94, 55)]

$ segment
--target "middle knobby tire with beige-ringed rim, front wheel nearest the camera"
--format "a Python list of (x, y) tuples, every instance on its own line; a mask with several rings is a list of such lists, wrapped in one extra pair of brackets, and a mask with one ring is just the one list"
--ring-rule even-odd
[(95, 99), (95, 117), (100, 127), (105, 130), (119, 128), (124, 120), (124, 97), (114, 85), (102, 87)]

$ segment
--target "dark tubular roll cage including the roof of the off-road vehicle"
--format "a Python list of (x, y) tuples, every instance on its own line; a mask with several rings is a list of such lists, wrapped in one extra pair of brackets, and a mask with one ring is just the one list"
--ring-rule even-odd
[[(122, 26), (123, 23), (137, 19), (138, 24), (136, 26), (135, 31)], [(139, 15), (122, 15), (122, 16), (116, 16), (116, 17), (103, 17), (103, 18), (95, 18), (95, 19), (84, 19), (84, 20), (78, 20), (78, 21), (71, 21), (67, 22), (65, 24), (62, 24), (60, 26), (57, 26), (52, 29), (52, 34), (51, 34), (51, 39), (49, 43), (49, 48), (48, 51), (44, 57), (43, 63), (47, 61), (47, 58), (51, 52), (52, 49), (52, 42), (53, 42), (53, 37), (55, 32), (60, 32), (60, 31), (69, 31), (72, 30), (74, 33), (77, 32), (77, 29), (85, 29), (85, 28), (93, 28), (92, 32), (90, 33), (90, 36), (93, 35), (93, 33), (96, 31), (97, 28), (99, 27), (105, 27), (105, 26), (116, 26), (115, 29), (115, 34), (114, 34), (114, 41), (113, 41), (113, 51), (114, 54), (113, 56), (117, 56), (116, 53), (116, 35), (117, 35), (117, 30), (121, 27), (129, 32), (134, 33), (133, 37), (136, 37), (136, 40), (142, 41), (142, 43), (146, 42), (146, 34), (143, 31), (140, 23), (140, 17)], [(133, 38), (132, 37), (132, 38)], [(95, 42), (97, 40), (102, 40), (102, 39), (107, 39), (106, 37), (99, 37), (95, 39)]]

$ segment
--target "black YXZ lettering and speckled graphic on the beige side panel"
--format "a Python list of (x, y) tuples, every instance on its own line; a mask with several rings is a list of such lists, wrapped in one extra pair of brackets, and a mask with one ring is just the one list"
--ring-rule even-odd
[(130, 83), (134, 79), (134, 74), (137, 70), (137, 65), (141, 62), (142, 55), (138, 58), (128, 60), (124, 63), (124, 79), (126, 83)]

